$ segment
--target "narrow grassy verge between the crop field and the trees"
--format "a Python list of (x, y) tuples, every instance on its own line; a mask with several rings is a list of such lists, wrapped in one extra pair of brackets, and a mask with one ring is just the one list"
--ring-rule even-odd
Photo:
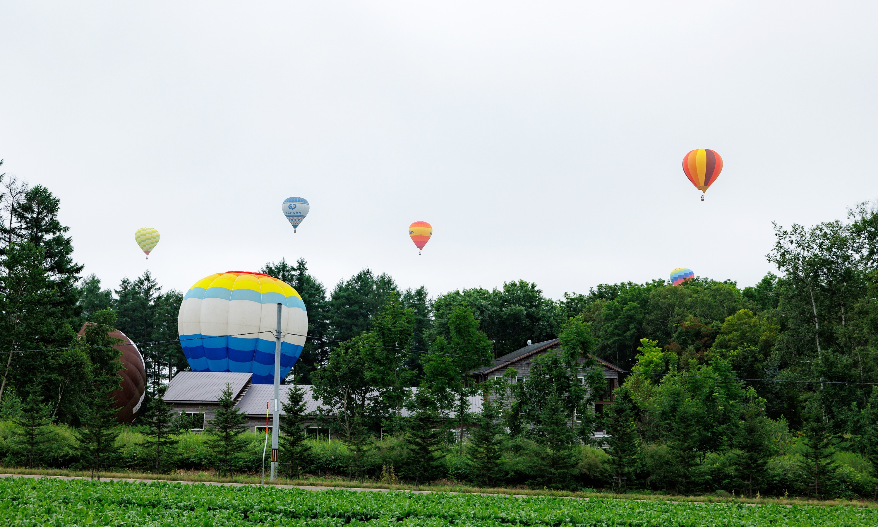
[[(76, 478), (90, 478), (89, 471), (56, 470), (40, 468), (18, 468), (0, 466), (0, 473), (7, 474), (31, 474), (45, 476), (70, 476)], [(231, 477), (222, 477), (209, 472), (178, 472), (178, 473), (139, 473), (139, 472), (104, 472), (99, 474), (101, 478), (120, 478), (131, 480), (164, 480), (164, 481), (196, 481), (205, 483), (240, 483), (259, 485), (261, 475), (236, 474)], [(266, 481), (266, 484), (269, 484)], [(608, 492), (571, 492), (565, 490), (538, 490), (533, 488), (508, 488), (508, 487), (471, 487), (450, 482), (436, 482), (429, 485), (409, 485), (406, 483), (385, 483), (376, 480), (346, 480), (343, 478), (314, 478), (309, 477), (300, 480), (280, 478), (274, 482), (276, 485), (293, 485), (302, 487), (335, 487), (335, 488), (375, 488), (384, 490), (400, 491), (427, 491), (427, 492), (454, 492), (466, 494), (490, 494), (490, 495), (525, 495), (525, 496), (558, 496), (566, 498), (604, 498), (621, 500), (640, 500), (658, 502), (700, 502), (700, 503), (751, 503), (751, 504), (774, 504), (774, 505), (817, 505), (829, 507), (842, 505), (845, 507), (878, 507), (878, 503), (872, 500), (817, 500), (802, 498), (746, 498), (743, 496), (723, 497), (716, 495), (670, 495), (670, 494), (646, 494), (630, 492), (624, 495)]]

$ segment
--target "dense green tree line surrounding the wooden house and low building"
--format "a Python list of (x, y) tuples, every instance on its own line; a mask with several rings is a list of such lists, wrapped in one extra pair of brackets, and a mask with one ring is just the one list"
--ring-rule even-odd
[[(141, 346), (150, 409), (132, 430), (151, 437), (147, 443), (169, 442), (169, 458), (154, 467), (174, 466), (174, 441), (186, 432), (173, 415), (159, 414), (163, 386), (188, 368), (173, 342), (182, 293), (162, 292), (148, 272), (115, 291), (97, 277), (81, 278), (68, 228), (57, 220), (59, 200), (12, 177), (3, 184), (0, 350), (8, 354), (0, 406), (5, 422), (15, 423), (4, 433), (4, 455), (21, 462), (22, 445), (52, 427), (76, 430), (71, 444), (80, 450), (67, 459), (77, 463), (119, 446), (126, 432), (112, 427), (107, 402), (118, 387), (118, 357), (94, 329), (113, 327), (135, 342), (170, 341)], [(776, 274), (743, 288), (730, 280), (673, 286), (656, 279), (552, 300), (517, 280), (430, 298), (424, 287), (403, 289), (386, 273), (363, 270), (328, 289), (303, 259), (265, 264), (261, 271), (296, 288), (308, 310), (309, 338), (285, 382), (312, 386), (322, 403), (317, 418), (341, 440), (333, 447), (341, 450), (324, 455), (328, 443), (296, 432), (299, 417), (291, 412), (284, 425), (284, 437), (298, 445), (288, 449), (296, 459), (291, 474), (871, 493), (878, 212), (864, 204), (846, 220), (774, 228), (767, 259)], [(466, 375), (528, 340), (556, 337), (560, 349), (533, 359), (523, 381), (513, 369), (480, 385)], [(604, 379), (590, 357), (630, 371), (602, 415), (594, 401)], [(288, 401), (290, 408), (299, 403)]]

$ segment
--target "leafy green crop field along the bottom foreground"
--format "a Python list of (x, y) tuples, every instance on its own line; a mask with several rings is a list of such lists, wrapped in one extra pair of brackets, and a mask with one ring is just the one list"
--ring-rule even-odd
[(0, 524), (19, 525), (878, 525), (878, 509), (90, 480), (0, 480)]

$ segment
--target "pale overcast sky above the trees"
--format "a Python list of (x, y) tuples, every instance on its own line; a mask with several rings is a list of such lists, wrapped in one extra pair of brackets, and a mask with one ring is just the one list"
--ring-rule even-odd
[[(876, 5), (7, 1), (0, 158), (109, 286), (282, 257), (431, 296), (675, 267), (752, 285), (772, 221), (878, 198)], [(693, 148), (725, 163), (703, 202)], [(162, 235), (148, 261), (138, 227)]]

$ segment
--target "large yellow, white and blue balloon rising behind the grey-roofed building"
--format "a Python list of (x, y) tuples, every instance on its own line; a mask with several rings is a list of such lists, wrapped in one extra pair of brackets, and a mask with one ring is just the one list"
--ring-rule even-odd
[(192, 285), (180, 305), (177, 331), (193, 372), (253, 372), (254, 384), (274, 383), (274, 331), (281, 304), (284, 338), (280, 377), (302, 353), (308, 333), (305, 302), (283, 280), (227, 271)]

